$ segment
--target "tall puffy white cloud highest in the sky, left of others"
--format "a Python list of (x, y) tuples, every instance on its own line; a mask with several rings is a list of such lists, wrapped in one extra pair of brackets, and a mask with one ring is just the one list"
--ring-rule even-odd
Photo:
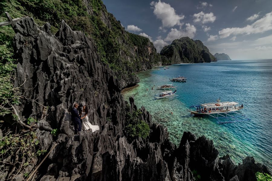
[(159, 2), (152, 1), (150, 5), (152, 6), (151, 8), (154, 9), (153, 13), (158, 19), (161, 20), (162, 27), (173, 27), (175, 25), (182, 25), (180, 21), (183, 20), (185, 16), (176, 14), (175, 9), (172, 8), (170, 4), (161, 2), (159, 0)]

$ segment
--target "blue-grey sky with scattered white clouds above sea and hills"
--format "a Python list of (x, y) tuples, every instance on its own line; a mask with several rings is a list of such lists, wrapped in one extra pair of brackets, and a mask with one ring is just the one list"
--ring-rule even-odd
[(125, 30), (148, 37), (157, 52), (181, 37), (212, 54), (272, 59), (272, 0), (103, 0)]

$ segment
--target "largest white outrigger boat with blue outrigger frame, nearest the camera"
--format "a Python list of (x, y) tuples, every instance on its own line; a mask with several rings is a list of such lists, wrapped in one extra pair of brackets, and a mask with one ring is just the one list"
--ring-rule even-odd
[(235, 101), (220, 102), (219, 98), (216, 103), (204, 103), (189, 107), (196, 108), (196, 111), (188, 110), (191, 114), (195, 116), (211, 116), (217, 119), (217, 123), (219, 124), (250, 120), (245, 115), (236, 112), (243, 109), (244, 106), (243, 104), (239, 105), (239, 103)]

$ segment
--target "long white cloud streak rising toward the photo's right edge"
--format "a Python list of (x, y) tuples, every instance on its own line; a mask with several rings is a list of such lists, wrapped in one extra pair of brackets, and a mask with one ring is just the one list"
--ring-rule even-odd
[(255, 33), (263, 33), (265, 31), (272, 30), (272, 12), (267, 13), (261, 19), (255, 21), (251, 25), (247, 25), (245, 27), (232, 27), (232, 28), (224, 28), (220, 30), (218, 33), (220, 38), (226, 38), (231, 35), (238, 34), (255, 34)]

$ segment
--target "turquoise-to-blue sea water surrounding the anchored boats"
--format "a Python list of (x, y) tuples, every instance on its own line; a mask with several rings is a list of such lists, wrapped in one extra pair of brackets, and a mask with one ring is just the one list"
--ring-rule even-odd
[[(168, 128), (170, 140), (179, 145), (184, 131), (212, 139), (220, 156), (229, 154), (238, 164), (246, 156), (272, 168), (272, 60), (219, 61), (171, 65), (137, 73), (139, 86), (125, 92), (135, 104), (145, 106), (153, 121)], [(173, 76), (187, 77), (186, 83), (171, 83)], [(153, 85), (174, 84), (180, 98), (154, 100), (160, 90)], [(147, 91), (148, 88), (148, 91)], [(250, 121), (219, 125), (209, 117), (193, 117), (190, 105), (233, 100), (244, 104), (240, 112)], [(173, 114), (171, 114), (173, 112)]]

